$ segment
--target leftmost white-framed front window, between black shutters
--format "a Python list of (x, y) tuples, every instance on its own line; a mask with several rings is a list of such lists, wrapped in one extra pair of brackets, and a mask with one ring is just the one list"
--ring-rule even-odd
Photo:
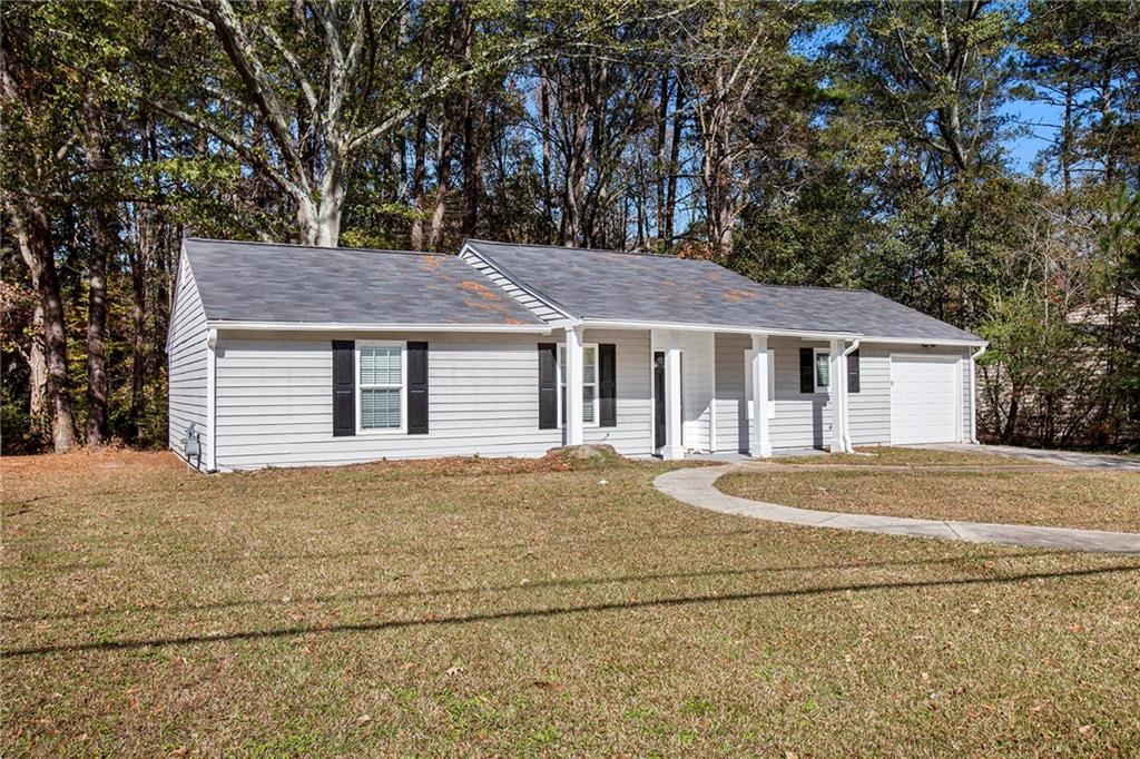
[(357, 429), (402, 432), (408, 374), (404, 343), (357, 343)]

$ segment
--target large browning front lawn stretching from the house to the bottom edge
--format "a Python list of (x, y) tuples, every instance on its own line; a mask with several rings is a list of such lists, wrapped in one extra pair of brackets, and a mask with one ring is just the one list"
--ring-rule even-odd
[(666, 468), (5, 459), (3, 753), (1140, 751), (1140, 558), (714, 514)]

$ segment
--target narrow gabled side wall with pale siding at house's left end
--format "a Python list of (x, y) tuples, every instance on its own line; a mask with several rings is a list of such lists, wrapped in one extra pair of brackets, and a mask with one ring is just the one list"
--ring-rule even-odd
[[(178, 289), (171, 313), (168, 377), (168, 433), (170, 448), (182, 455), (182, 438), (193, 422), (202, 441), (202, 465), (206, 463), (209, 419), (206, 383), (209, 329), (202, 297), (194, 281), (189, 261), (179, 256)], [(194, 459), (197, 463), (197, 459)]]

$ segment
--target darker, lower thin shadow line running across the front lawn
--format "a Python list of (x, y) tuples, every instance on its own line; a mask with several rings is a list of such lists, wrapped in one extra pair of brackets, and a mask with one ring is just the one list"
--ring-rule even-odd
[[(1054, 553), (1054, 552), (1042, 552), (1042, 553)], [(917, 563), (917, 562), (907, 562), (907, 563)], [(792, 571), (793, 569), (809, 570), (813, 568), (788, 568), (784, 571)], [(815, 569), (825, 569), (825, 568), (815, 568)], [(773, 570), (752, 570), (752, 571), (773, 571)], [(694, 576), (731, 574), (736, 572), (738, 572), (736, 570), (727, 570), (727, 571), (700, 572), (693, 574)], [(343, 634), (343, 632), (370, 632), (370, 631), (401, 629), (408, 627), (470, 625), (474, 622), (494, 622), (494, 621), (529, 619), (529, 618), (549, 618), (549, 617), (562, 617), (567, 614), (586, 614), (586, 613), (598, 613), (608, 611), (628, 611), (628, 610), (648, 609), (648, 607), (670, 607), (670, 606), (684, 606), (691, 604), (720, 604), (720, 603), (732, 603), (740, 601), (758, 601), (764, 598), (792, 598), (792, 597), (804, 597), (804, 596), (819, 596), (819, 595), (836, 594), (836, 593), (857, 593), (868, 590), (909, 590), (915, 588), (962, 587), (962, 586), (980, 586), (980, 585), (1015, 585), (1019, 582), (1028, 582), (1035, 580), (1094, 577), (1100, 574), (1113, 574), (1119, 572), (1140, 572), (1140, 565), (1114, 564), (1098, 569), (1069, 570), (1059, 572), (1031, 572), (1024, 574), (1010, 574), (1005, 577), (968, 577), (968, 578), (956, 578), (956, 579), (945, 579), (945, 580), (866, 582), (866, 583), (852, 583), (852, 585), (839, 585), (839, 586), (822, 586), (813, 588), (790, 588), (783, 590), (762, 590), (754, 593), (730, 593), (730, 594), (709, 593), (701, 595), (652, 598), (645, 601), (622, 601), (622, 602), (611, 602), (611, 603), (581, 604), (576, 606), (552, 606), (546, 609), (521, 609), (516, 611), (506, 611), (506, 612), (456, 614), (451, 617), (426, 617), (421, 619), (386, 620), (381, 622), (359, 622), (351, 625), (328, 625), (328, 626), (294, 626), (294, 627), (285, 627), (270, 630), (244, 630), (236, 632), (219, 632), (215, 635), (172, 636), (172, 637), (150, 638), (142, 640), (125, 639), (125, 640), (103, 640), (98, 643), (82, 643), (82, 644), (52, 644), (52, 645), (33, 646), (26, 648), (10, 648), (0, 652), (0, 658), (13, 659), (18, 656), (34, 656), (34, 655), (51, 654), (51, 653), (124, 651), (124, 650), (137, 650), (137, 648), (161, 647), (161, 646), (189, 645), (199, 643), (258, 640), (267, 638), (295, 637), (309, 634), (329, 635), (329, 634)], [(657, 578), (667, 579), (670, 576), (668, 574), (661, 574), (661, 576), (646, 576), (643, 578), (630, 578), (630, 579), (632, 580), (640, 579), (644, 581)], [(614, 580), (609, 579), (603, 581), (613, 582)], [(589, 582), (589, 581), (586, 580), (581, 582)], [(537, 586), (538, 583), (535, 585)], [(519, 587), (520, 586), (511, 586), (511, 589), (519, 589)], [(535, 586), (527, 586), (527, 587), (535, 587)], [(477, 588), (477, 590), (482, 590), (482, 589)], [(461, 589), (459, 591), (463, 590)], [(421, 595), (421, 594), (414, 594), (414, 595)], [(365, 599), (368, 596), (355, 596), (353, 598)]]

